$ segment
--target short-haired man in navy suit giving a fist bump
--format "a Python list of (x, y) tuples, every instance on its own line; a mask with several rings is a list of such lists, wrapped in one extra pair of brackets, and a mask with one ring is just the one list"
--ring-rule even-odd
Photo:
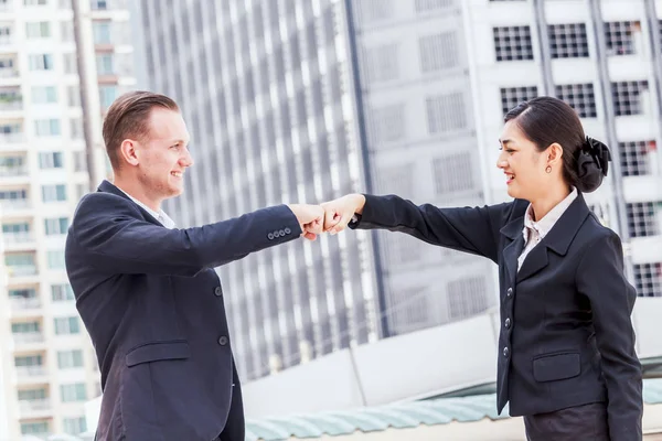
[(193, 159), (179, 108), (162, 95), (119, 97), (104, 121), (104, 141), (114, 183), (83, 197), (65, 249), (102, 370), (96, 440), (244, 441), (242, 391), (213, 268), (301, 234), (314, 240), (324, 213), (280, 205), (173, 228), (161, 202), (182, 193)]

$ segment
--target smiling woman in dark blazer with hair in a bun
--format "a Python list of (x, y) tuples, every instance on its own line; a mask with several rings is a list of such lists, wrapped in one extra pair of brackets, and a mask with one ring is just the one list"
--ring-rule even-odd
[(642, 374), (619, 237), (590, 213), (610, 161), (567, 104), (541, 97), (505, 116), (498, 166), (513, 202), (416, 206), (351, 194), (322, 204), (325, 229), (403, 232), (499, 265), (498, 409), (510, 402), (527, 438), (641, 440)]

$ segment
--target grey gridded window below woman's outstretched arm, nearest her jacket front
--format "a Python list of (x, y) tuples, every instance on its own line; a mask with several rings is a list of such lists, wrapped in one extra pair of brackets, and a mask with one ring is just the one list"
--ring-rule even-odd
[(483, 277), (455, 280), (449, 282), (446, 289), (450, 319), (466, 319), (479, 314), (490, 306)]

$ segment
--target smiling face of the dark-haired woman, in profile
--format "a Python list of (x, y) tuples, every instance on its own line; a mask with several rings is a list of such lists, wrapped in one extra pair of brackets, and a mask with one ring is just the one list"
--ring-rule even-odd
[[(547, 173), (545, 169), (549, 164), (547, 150), (540, 152), (535, 144), (530, 141), (516, 125), (515, 119), (503, 126), (501, 132), (501, 154), (496, 166), (503, 170), (508, 185), (508, 194), (514, 198), (534, 201), (544, 194), (556, 173)], [(556, 153), (556, 152), (554, 152)], [(557, 162), (557, 161), (552, 161)], [(559, 166), (558, 164), (554, 164)], [(554, 166), (553, 165), (553, 166)]]

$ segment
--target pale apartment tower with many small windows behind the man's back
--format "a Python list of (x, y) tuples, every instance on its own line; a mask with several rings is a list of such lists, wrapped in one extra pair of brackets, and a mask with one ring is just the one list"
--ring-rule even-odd
[(2, 439), (81, 433), (100, 394), (64, 244), (106, 173), (103, 108), (135, 85), (128, 18), (126, 2), (0, 0)]

